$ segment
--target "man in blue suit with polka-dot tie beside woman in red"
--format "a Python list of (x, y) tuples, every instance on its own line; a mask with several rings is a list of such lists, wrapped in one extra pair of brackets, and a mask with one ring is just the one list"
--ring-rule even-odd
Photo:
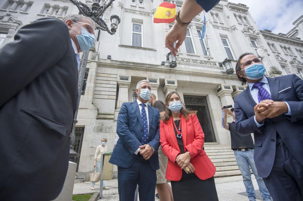
[(137, 185), (140, 201), (154, 201), (160, 113), (147, 104), (151, 96), (147, 80), (138, 82), (136, 93), (136, 101), (121, 106), (117, 122), (119, 140), (109, 162), (118, 166), (120, 201), (133, 201)]

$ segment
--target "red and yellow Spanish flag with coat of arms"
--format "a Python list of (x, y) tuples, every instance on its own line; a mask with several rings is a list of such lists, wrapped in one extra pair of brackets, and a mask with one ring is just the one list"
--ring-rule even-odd
[(171, 23), (175, 21), (176, 5), (163, 2), (155, 12), (154, 23)]

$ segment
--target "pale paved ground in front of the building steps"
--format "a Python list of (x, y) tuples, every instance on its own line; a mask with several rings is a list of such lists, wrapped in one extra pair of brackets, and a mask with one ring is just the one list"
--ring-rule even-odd
[[(256, 189), (257, 201), (263, 200), (258, 190), (259, 187), (257, 181), (255, 180), (254, 175), (251, 176), (252, 176), (252, 182)], [(245, 192), (245, 187), (242, 181), (242, 176), (215, 178), (215, 183), (216, 183), (216, 188), (220, 201), (248, 201), (248, 197)], [(85, 194), (85, 193), (99, 192), (100, 190), (99, 184), (100, 182), (96, 183), (95, 190), (90, 190), (89, 182), (75, 183), (73, 193)], [(110, 189), (103, 190), (104, 198), (98, 199), (98, 201), (119, 201), (118, 188), (117, 188), (118, 181), (116, 179), (109, 180), (107, 181), (107, 186), (110, 187)], [(190, 201), (190, 198), (186, 201)]]

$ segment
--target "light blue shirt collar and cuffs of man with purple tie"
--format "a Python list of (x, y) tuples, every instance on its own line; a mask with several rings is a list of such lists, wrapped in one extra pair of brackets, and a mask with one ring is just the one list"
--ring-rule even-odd
[[(262, 87), (269, 93), (269, 95), (271, 96), (271, 92), (270, 92), (270, 88), (269, 88), (269, 84), (268, 84), (268, 80), (267, 78), (264, 76), (259, 82), (262, 82), (263, 85)], [(252, 87), (255, 83), (247, 83), (248, 85), (248, 88), (249, 88), (249, 92), (251, 94), (251, 97), (252, 99), (254, 99), (254, 101), (258, 104), (259, 101), (258, 101), (258, 92), (259, 92), (259, 89), (258, 87)], [(291, 110), (290, 110), (290, 107), (288, 105), (287, 102), (285, 102), (287, 107), (288, 107), (288, 112), (287, 113), (284, 113), (285, 115), (291, 115)], [(259, 124), (256, 120), (256, 115), (254, 116), (254, 120), (255, 120), (255, 123), (257, 125), (257, 128), (260, 128), (263, 124)], [(264, 122), (264, 121), (263, 121)]]

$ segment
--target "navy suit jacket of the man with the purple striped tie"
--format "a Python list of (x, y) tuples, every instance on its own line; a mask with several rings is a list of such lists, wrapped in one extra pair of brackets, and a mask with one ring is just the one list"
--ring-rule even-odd
[(257, 104), (249, 89), (245, 89), (235, 98), (236, 130), (242, 135), (254, 133), (254, 159), (258, 175), (263, 178), (268, 177), (274, 164), (277, 132), (303, 165), (303, 80), (295, 74), (267, 79), (271, 99), (286, 101), (291, 116), (282, 114), (275, 118), (266, 118), (264, 125), (257, 128), (254, 121), (254, 107)]

